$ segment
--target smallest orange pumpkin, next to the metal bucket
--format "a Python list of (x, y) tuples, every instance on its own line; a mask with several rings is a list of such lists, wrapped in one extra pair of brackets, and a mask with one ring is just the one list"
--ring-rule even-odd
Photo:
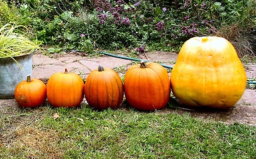
[(28, 75), (15, 87), (14, 97), (20, 107), (38, 107), (45, 102), (47, 87), (40, 79)]

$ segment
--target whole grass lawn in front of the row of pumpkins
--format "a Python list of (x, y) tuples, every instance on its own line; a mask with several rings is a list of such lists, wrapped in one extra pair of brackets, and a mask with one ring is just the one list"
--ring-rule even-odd
[(0, 158), (256, 158), (256, 127), (170, 108), (149, 113), (47, 105), (1, 107), (0, 113)]

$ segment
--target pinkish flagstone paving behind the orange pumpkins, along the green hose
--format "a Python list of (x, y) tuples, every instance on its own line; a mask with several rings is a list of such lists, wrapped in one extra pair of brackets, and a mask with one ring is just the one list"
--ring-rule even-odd
[[(150, 60), (154, 62), (163, 62), (169, 66), (173, 66), (172, 63), (176, 60), (177, 54), (169, 52), (152, 53), (146, 56), (140, 56), (140, 59)], [(111, 56), (100, 56), (98, 58), (88, 58), (86, 56), (80, 56), (77, 54), (62, 54), (61, 56), (45, 56), (42, 54), (35, 54), (33, 56), (33, 78), (49, 78), (56, 72), (64, 72), (64, 68), (67, 68), (69, 72), (76, 74), (82, 74), (83, 78), (86, 78), (90, 72), (99, 65), (116, 68), (121, 66), (129, 66), (132, 64), (132, 60), (124, 60), (122, 58), (114, 58)]]

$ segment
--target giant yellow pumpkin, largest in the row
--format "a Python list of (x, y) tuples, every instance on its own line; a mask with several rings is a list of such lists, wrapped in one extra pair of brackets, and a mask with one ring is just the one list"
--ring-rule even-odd
[(203, 36), (183, 44), (171, 81), (174, 96), (185, 105), (224, 109), (241, 98), (247, 78), (228, 40)]

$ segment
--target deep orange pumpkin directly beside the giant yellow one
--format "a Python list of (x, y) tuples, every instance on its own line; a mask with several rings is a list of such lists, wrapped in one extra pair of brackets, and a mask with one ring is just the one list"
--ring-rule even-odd
[(135, 109), (162, 109), (170, 99), (169, 74), (160, 64), (142, 61), (127, 70), (124, 94), (128, 104)]

